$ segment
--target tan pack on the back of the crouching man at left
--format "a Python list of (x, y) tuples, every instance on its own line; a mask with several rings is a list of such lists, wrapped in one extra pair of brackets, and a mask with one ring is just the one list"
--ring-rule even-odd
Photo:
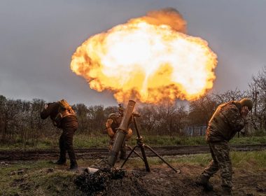
[(57, 127), (60, 127), (61, 120), (65, 118), (66, 116), (76, 116), (75, 111), (71, 108), (68, 102), (66, 100), (62, 99), (58, 102), (58, 113), (57, 116), (55, 116), (55, 123), (54, 125)]

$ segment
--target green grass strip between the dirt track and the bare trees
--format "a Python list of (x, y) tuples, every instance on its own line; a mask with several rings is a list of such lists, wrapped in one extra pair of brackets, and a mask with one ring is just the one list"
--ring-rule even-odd
[[(144, 143), (149, 146), (177, 146), (177, 145), (207, 145), (204, 137), (179, 137), (179, 136), (159, 136), (147, 135), (144, 137)], [(130, 146), (137, 144), (136, 136), (127, 142)], [(38, 139), (38, 141), (23, 142), (15, 141), (12, 144), (0, 144), (0, 150), (37, 150), (58, 148), (59, 134), (53, 138)], [(105, 134), (75, 134), (73, 138), (74, 148), (106, 148), (109, 144), (109, 137)], [(235, 137), (230, 144), (266, 144), (266, 136), (261, 137)]]

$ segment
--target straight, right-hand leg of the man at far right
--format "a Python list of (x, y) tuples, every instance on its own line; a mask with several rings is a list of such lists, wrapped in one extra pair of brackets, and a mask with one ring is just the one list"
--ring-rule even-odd
[(230, 160), (230, 148), (227, 141), (219, 142), (214, 146), (214, 153), (221, 170), (222, 188), (230, 195), (232, 190), (232, 162)]

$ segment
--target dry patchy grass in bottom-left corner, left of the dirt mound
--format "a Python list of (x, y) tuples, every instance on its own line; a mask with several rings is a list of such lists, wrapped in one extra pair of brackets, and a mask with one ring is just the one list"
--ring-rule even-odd
[[(0, 195), (82, 195), (73, 183), (77, 174), (56, 169), (51, 162), (18, 162), (0, 167)], [(16, 174), (18, 171), (23, 172)]]

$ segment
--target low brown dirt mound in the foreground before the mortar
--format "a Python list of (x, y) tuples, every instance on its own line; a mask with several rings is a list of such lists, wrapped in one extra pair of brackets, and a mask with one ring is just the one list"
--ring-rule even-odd
[(204, 195), (193, 179), (162, 168), (152, 172), (104, 168), (80, 174), (75, 183), (85, 195)]

